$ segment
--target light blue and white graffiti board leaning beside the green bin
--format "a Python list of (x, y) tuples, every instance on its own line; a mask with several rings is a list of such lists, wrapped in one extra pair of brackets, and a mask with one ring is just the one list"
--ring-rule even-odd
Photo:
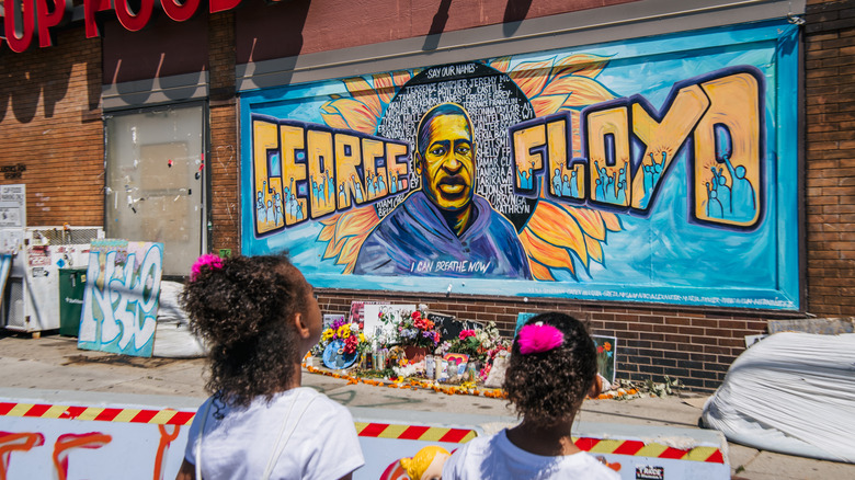
[(93, 240), (78, 347), (151, 356), (163, 244)]

